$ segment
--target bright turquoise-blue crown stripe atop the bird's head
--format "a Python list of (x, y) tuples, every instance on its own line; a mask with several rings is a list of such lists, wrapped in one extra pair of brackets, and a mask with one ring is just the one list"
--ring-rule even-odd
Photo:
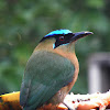
[(73, 33), (73, 32), (69, 31), (69, 30), (61, 29), (61, 30), (52, 31), (51, 33), (48, 33), (44, 37), (52, 36), (52, 35), (55, 35), (55, 34), (68, 34), (68, 33)]

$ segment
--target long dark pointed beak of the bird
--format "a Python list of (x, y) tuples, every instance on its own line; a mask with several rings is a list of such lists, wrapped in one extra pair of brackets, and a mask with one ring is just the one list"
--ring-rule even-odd
[(72, 37), (72, 42), (77, 41), (78, 38), (85, 37), (87, 35), (91, 35), (94, 34), (92, 32), (77, 32), (77, 33), (73, 33), (73, 37)]

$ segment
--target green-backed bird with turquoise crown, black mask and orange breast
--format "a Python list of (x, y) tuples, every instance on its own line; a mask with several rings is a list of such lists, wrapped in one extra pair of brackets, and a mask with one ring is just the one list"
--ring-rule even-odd
[(57, 107), (64, 102), (79, 73), (75, 42), (90, 34), (92, 32), (73, 33), (59, 29), (40, 41), (26, 63), (21, 84), (20, 105), (23, 110), (38, 110), (47, 105)]

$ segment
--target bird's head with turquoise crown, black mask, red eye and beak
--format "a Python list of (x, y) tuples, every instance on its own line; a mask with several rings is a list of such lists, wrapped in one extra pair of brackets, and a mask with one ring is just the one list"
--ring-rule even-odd
[[(47, 35), (45, 35), (42, 40), (42, 42), (46, 42), (46, 45), (50, 44), (50, 41), (52, 41), (51, 45), (53, 47), (53, 50), (57, 48), (57, 47), (63, 47), (63, 46), (67, 46), (72, 43), (74, 43), (75, 41), (77, 41), (78, 38), (81, 38), (84, 36), (90, 35), (92, 34), (92, 32), (77, 32), (77, 33), (73, 33), (69, 30), (56, 30), (53, 31), (51, 33), (48, 33)], [(46, 47), (46, 45), (44, 45)]]

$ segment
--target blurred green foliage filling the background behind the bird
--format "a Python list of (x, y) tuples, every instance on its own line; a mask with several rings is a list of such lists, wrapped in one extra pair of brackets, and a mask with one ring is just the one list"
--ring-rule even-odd
[(76, 43), (80, 73), (74, 92), (86, 94), (87, 59), (110, 51), (110, 0), (0, 0), (0, 94), (20, 90), (26, 62), (48, 32), (95, 34)]

